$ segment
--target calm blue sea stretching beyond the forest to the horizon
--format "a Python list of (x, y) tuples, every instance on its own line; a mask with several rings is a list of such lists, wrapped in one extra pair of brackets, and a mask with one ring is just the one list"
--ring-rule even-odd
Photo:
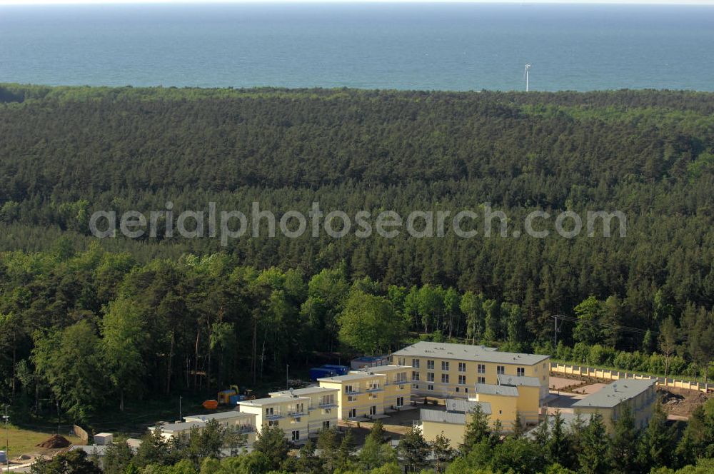
[(714, 7), (0, 6), (0, 82), (714, 91)]

